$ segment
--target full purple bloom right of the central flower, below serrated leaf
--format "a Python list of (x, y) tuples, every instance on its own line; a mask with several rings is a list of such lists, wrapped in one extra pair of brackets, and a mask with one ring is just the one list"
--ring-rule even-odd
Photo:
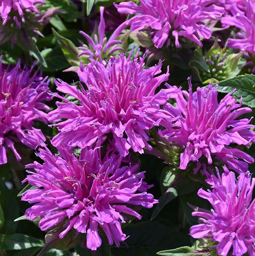
[(231, 96), (234, 91), (219, 103), (217, 88), (211, 83), (207, 88), (198, 87), (192, 93), (189, 79), (189, 87), (189, 93), (182, 91), (176, 98), (176, 108), (169, 103), (165, 105), (164, 110), (169, 117), (161, 122), (165, 128), (161, 135), (184, 150), (180, 155), (179, 168), (185, 170), (190, 161), (197, 161), (196, 173), (201, 166), (205, 169), (203, 161), (207, 159), (210, 165), (217, 159), (238, 173), (248, 171), (248, 163), (253, 163), (254, 159), (235, 145), (249, 146), (255, 141), (255, 132), (250, 130), (254, 126), (249, 124), (250, 120), (237, 119), (252, 110), (240, 108), (241, 103)]

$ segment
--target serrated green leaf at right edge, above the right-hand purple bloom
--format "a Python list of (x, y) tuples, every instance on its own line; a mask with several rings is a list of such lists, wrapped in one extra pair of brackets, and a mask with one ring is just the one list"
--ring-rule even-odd
[(219, 85), (218, 92), (229, 93), (233, 89), (237, 89), (233, 96), (242, 103), (251, 108), (255, 108), (255, 75), (245, 74), (238, 77), (223, 80), (217, 83)]

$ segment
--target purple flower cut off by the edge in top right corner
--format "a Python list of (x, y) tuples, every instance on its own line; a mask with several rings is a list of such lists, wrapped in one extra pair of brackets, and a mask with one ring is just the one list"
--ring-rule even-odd
[(247, 3), (247, 10), (242, 12), (237, 5), (232, 6), (232, 15), (222, 18), (225, 26), (235, 26), (240, 29), (238, 39), (230, 38), (227, 46), (230, 48), (246, 50), (255, 54), (255, 2)]

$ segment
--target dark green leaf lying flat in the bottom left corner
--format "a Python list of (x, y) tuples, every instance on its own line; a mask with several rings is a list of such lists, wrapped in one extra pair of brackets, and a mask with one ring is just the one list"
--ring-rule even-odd
[(2, 235), (0, 234), (0, 248), (1, 250), (21, 250), (32, 247), (42, 247), (44, 242), (42, 240), (32, 238), (23, 234)]

